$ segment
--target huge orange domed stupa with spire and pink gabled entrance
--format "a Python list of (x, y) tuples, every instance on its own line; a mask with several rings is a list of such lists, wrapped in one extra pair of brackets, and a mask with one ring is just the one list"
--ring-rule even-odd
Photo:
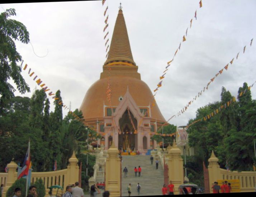
[[(88, 89), (80, 106), (86, 124), (105, 133), (98, 140), (105, 149), (113, 140), (115, 146), (123, 150), (135, 149), (143, 153), (156, 147), (156, 142), (150, 139), (150, 131), (156, 131), (165, 118), (157, 104), (152, 105), (153, 94), (137, 71), (120, 7), (103, 72)], [(108, 84), (111, 104), (106, 96)]]

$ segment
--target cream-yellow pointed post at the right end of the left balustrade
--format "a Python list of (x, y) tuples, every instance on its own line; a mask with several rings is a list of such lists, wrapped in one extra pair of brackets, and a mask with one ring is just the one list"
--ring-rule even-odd
[[(76, 158), (75, 151), (73, 152), (71, 158), (68, 159), (68, 167), (67, 167), (67, 178), (68, 182), (65, 181), (65, 186), (73, 185), (75, 182), (79, 181), (79, 166), (77, 165), (78, 159)], [(65, 179), (67, 180), (67, 179)]]

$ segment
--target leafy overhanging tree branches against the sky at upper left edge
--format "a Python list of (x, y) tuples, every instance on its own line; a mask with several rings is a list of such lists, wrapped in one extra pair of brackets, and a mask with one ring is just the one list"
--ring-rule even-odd
[(16, 51), (14, 40), (29, 43), (29, 32), (25, 25), (19, 21), (9, 19), (16, 15), (15, 9), (7, 9), (0, 14), (0, 115), (6, 112), (6, 105), (14, 97), (15, 88), (9, 83), (13, 79), (20, 93), (29, 92), (30, 89), (21, 75), (22, 67), (17, 63), (22, 56)]

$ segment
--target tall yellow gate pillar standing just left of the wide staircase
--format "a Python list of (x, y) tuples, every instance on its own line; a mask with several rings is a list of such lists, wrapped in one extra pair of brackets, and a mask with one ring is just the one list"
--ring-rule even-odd
[(106, 158), (106, 189), (111, 197), (121, 196), (120, 193), (120, 159), (118, 157), (118, 149), (115, 147), (114, 141), (108, 149), (108, 157)]

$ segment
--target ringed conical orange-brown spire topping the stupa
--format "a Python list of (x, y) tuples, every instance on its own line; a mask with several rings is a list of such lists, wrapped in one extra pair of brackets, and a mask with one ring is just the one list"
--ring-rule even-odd
[[(104, 65), (113, 62), (126, 62), (136, 66), (133, 61), (131, 46), (128, 38), (127, 28), (125, 25), (123, 10), (120, 3), (117, 20), (115, 21), (114, 32), (110, 44), (108, 59)], [(131, 66), (132, 66), (131, 65)]]

